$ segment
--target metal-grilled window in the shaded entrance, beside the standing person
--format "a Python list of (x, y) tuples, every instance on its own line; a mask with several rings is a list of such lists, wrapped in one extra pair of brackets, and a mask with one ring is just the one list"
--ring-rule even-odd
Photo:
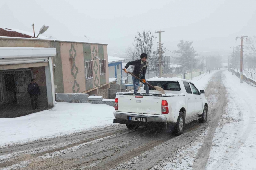
[(14, 71), (14, 80), (16, 92), (27, 92), (28, 84), (31, 83), (32, 71), (31, 70), (21, 70)]

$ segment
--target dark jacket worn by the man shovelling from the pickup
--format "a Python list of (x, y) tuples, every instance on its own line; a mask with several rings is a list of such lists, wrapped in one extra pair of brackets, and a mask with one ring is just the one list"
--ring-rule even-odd
[(125, 68), (127, 69), (130, 65), (134, 66), (134, 70), (132, 74), (134, 74), (135, 76), (141, 79), (145, 79), (145, 75), (148, 67), (147, 61), (145, 63), (141, 59), (135, 60), (135, 61), (129, 61), (126, 64)]

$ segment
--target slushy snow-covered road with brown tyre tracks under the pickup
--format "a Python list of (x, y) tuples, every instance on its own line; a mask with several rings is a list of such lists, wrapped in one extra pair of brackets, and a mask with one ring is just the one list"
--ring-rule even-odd
[[(195, 121), (186, 125), (183, 135), (173, 136), (168, 129), (140, 127), (138, 130), (128, 130), (124, 125), (115, 124), (47, 141), (2, 148), (0, 169), (236, 169), (234, 164), (239, 159), (236, 154), (240, 153), (242, 146), (247, 149), (246, 153), (255, 151), (256, 143), (248, 143), (250, 135), (245, 134), (251, 132), (249, 129), (252, 125), (249, 123), (254, 121), (248, 117), (254, 117), (251, 105), (255, 108), (255, 104), (249, 102), (253, 98), (237, 103), (235, 98), (240, 93), (232, 91), (238, 88), (239, 83), (235, 87), (230, 84), (236, 80), (239, 82), (239, 79), (227, 71), (220, 70), (214, 75), (211, 73), (193, 81), (200, 86), (200, 83), (209, 79), (205, 89), (209, 104), (208, 121), (204, 124)], [(246, 114), (243, 114), (239, 109), (245, 104), (248, 106), (246, 105)], [(244, 128), (235, 128), (236, 126)], [(234, 128), (232, 132), (230, 129)], [(241, 150), (240, 157), (248, 158), (246, 153), (243, 156)], [(250, 169), (248, 166), (240, 165), (237, 169)]]

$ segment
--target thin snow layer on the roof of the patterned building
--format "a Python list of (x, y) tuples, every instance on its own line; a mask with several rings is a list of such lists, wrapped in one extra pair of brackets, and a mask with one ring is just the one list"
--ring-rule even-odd
[[(52, 37), (45, 37), (42, 36), (41, 34), (38, 36), (38, 38), (33, 38), (34, 37), (34, 33), (31, 32), (27, 32), (27, 31), (23, 31), (23, 30), (19, 30), (19, 29), (13, 29), (13, 28), (7, 28), (7, 27), (0, 27), (5, 31), (12, 31), (12, 32), (18, 32), (21, 34), (25, 34), (28, 36), (31, 36), (31, 38), (24, 38), (24, 37), (7, 37), (7, 36), (1, 36), (0, 38), (10, 38), (10, 39), (32, 39), (32, 40), (51, 40), (51, 41), (60, 41), (60, 42), (77, 42), (77, 43), (88, 43), (88, 44), (101, 44), (101, 45), (107, 45), (104, 43), (97, 43), (97, 42), (86, 42), (86, 41), (80, 41), (80, 40), (60, 40), (57, 38), (52, 38)], [(38, 33), (35, 33), (35, 36), (37, 36)]]

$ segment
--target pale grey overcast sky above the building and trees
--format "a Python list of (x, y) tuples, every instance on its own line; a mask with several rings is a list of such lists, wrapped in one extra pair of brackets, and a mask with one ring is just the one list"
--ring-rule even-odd
[(36, 32), (49, 26), (44, 36), (106, 43), (114, 56), (144, 29), (164, 30), (171, 51), (183, 39), (198, 52), (225, 54), (239, 45), (236, 36), (256, 35), (256, 0), (1, 0), (0, 27), (33, 32), (32, 22)]

